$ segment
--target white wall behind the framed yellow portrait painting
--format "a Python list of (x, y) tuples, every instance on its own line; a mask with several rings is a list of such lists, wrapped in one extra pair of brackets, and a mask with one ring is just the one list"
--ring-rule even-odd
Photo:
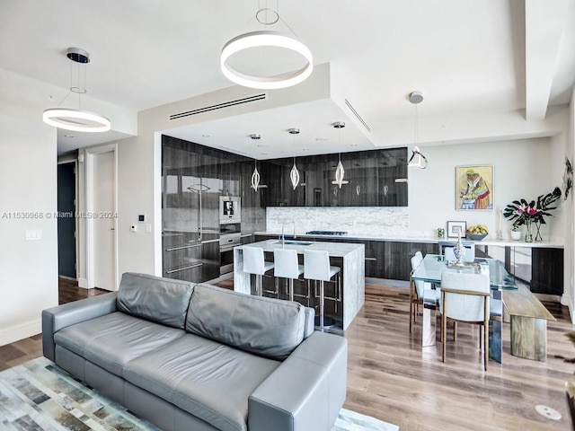
[[(564, 159), (563, 134), (556, 139), (533, 138), (515, 141), (467, 145), (426, 146), (422, 152), (429, 160), (425, 170), (410, 168), (410, 230), (433, 234), (448, 220), (461, 220), (467, 225), (487, 224), (495, 237), (497, 211), (456, 210), (456, 166), (492, 164), (493, 207), (505, 207), (512, 200), (535, 199), (562, 185)], [(544, 240), (550, 235), (562, 238), (564, 227), (561, 211), (555, 211), (542, 227)], [(560, 220), (555, 220), (559, 216)], [(509, 235), (509, 221), (503, 219), (503, 236)]]

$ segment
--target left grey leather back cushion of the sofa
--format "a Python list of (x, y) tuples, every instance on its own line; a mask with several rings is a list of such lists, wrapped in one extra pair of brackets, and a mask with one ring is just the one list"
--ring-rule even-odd
[(120, 312), (183, 330), (193, 284), (127, 272), (119, 283)]

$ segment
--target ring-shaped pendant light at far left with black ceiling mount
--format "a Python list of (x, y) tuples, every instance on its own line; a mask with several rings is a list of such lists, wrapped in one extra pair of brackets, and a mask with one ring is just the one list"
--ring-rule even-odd
[[(82, 48), (68, 48), (66, 51), (66, 57), (73, 62), (71, 66), (72, 69), (76, 66), (77, 82), (75, 84), (72, 83), (74, 75), (73, 70), (71, 69), (70, 71), (70, 92), (78, 94), (78, 109), (51, 108), (49, 110), (44, 110), (42, 119), (46, 124), (55, 128), (64, 128), (75, 132), (107, 132), (111, 129), (110, 119), (93, 112), (82, 110), (81, 95), (88, 92), (85, 89), (85, 65), (90, 63), (90, 54)], [(82, 67), (82, 65), (84, 65), (84, 67)], [(84, 72), (84, 74), (81, 72)], [(83, 80), (80, 75), (84, 75)], [(62, 102), (66, 101), (70, 92), (66, 94), (66, 97)]]

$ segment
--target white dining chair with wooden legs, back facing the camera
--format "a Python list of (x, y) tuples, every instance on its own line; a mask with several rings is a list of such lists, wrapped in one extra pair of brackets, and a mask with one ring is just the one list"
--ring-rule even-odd
[[(491, 287), (487, 274), (444, 271), (441, 274), (442, 360), (446, 362), (447, 321), (479, 325), (479, 344), (483, 348), (483, 368), (489, 357), (489, 319)], [(454, 340), (456, 327), (454, 328)]]

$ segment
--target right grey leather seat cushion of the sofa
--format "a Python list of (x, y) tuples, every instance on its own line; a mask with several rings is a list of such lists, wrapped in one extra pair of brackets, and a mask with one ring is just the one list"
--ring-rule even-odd
[(124, 378), (217, 429), (245, 431), (249, 396), (280, 364), (186, 334), (130, 361)]

